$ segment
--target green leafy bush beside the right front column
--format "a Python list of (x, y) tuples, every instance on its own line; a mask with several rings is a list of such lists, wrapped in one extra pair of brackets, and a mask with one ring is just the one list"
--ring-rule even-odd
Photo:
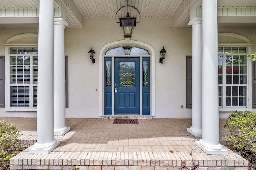
[(230, 135), (227, 139), (233, 142), (233, 150), (240, 152), (252, 164), (256, 163), (256, 113), (234, 111), (228, 117), (224, 127)]

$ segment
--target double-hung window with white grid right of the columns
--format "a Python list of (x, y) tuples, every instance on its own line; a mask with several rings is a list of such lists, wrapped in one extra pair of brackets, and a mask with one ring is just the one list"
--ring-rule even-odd
[(247, 56), (246, 47), (218, 47), (219, 106), (224, 109), (248, 107)]

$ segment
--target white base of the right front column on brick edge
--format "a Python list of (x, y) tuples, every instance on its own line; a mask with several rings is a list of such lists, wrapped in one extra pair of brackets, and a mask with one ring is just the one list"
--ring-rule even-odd
[(202, 139), (200, 141), (196, 141), (196, 145), (202, 149), (206, 154), (212, 154), (212, 155), (228, 155), (228, 151), (226, 149), (223, 149), (222, 145), (211, 145), (208, 144)]

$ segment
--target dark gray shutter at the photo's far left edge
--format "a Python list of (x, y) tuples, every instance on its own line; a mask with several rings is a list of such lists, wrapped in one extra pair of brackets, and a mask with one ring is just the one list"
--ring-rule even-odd
[(0, 107), (4, 107), (4, 56), (0, 56)]

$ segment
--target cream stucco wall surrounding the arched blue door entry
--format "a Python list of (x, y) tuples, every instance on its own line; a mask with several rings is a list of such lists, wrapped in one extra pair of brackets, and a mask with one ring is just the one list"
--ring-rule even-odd
[[(114, 18), (85, 19), (84, 23), (83, 29), (65, 29), (65, 55), (69, 57), (66, 117), (99, 117), (99, 59), (102, 57), (99, 52), (108, 43), (124, 40), (122, 28)], [(218, 28), (218, 32), (237, 33), (255, 44), (254, 30), (249, 27)], [(38, 33), (38, 29), (0, 29), (0, 55), (5, 55), (5, 41), (22, 33)], [(191, 109), (186, 109), (186, 55), (192, 55), (192, 28), (171, 28), (169, 18), (142, 18), (131, 40), (151, 45), (156, 53), (156, 118), (190, 118)], [(160, 64), (159, 51), (163, 46), (167, 53), (164, 63)], [(96, 52), (95, 64), (89, 59), (91, 47)], [(256, 45), (252, 45), (254, 52)], [(222, 118), (226, 115), (220, 113)], [(0, 117), (36, 117), (36, 112), (6, 112), (1, 108)]]

